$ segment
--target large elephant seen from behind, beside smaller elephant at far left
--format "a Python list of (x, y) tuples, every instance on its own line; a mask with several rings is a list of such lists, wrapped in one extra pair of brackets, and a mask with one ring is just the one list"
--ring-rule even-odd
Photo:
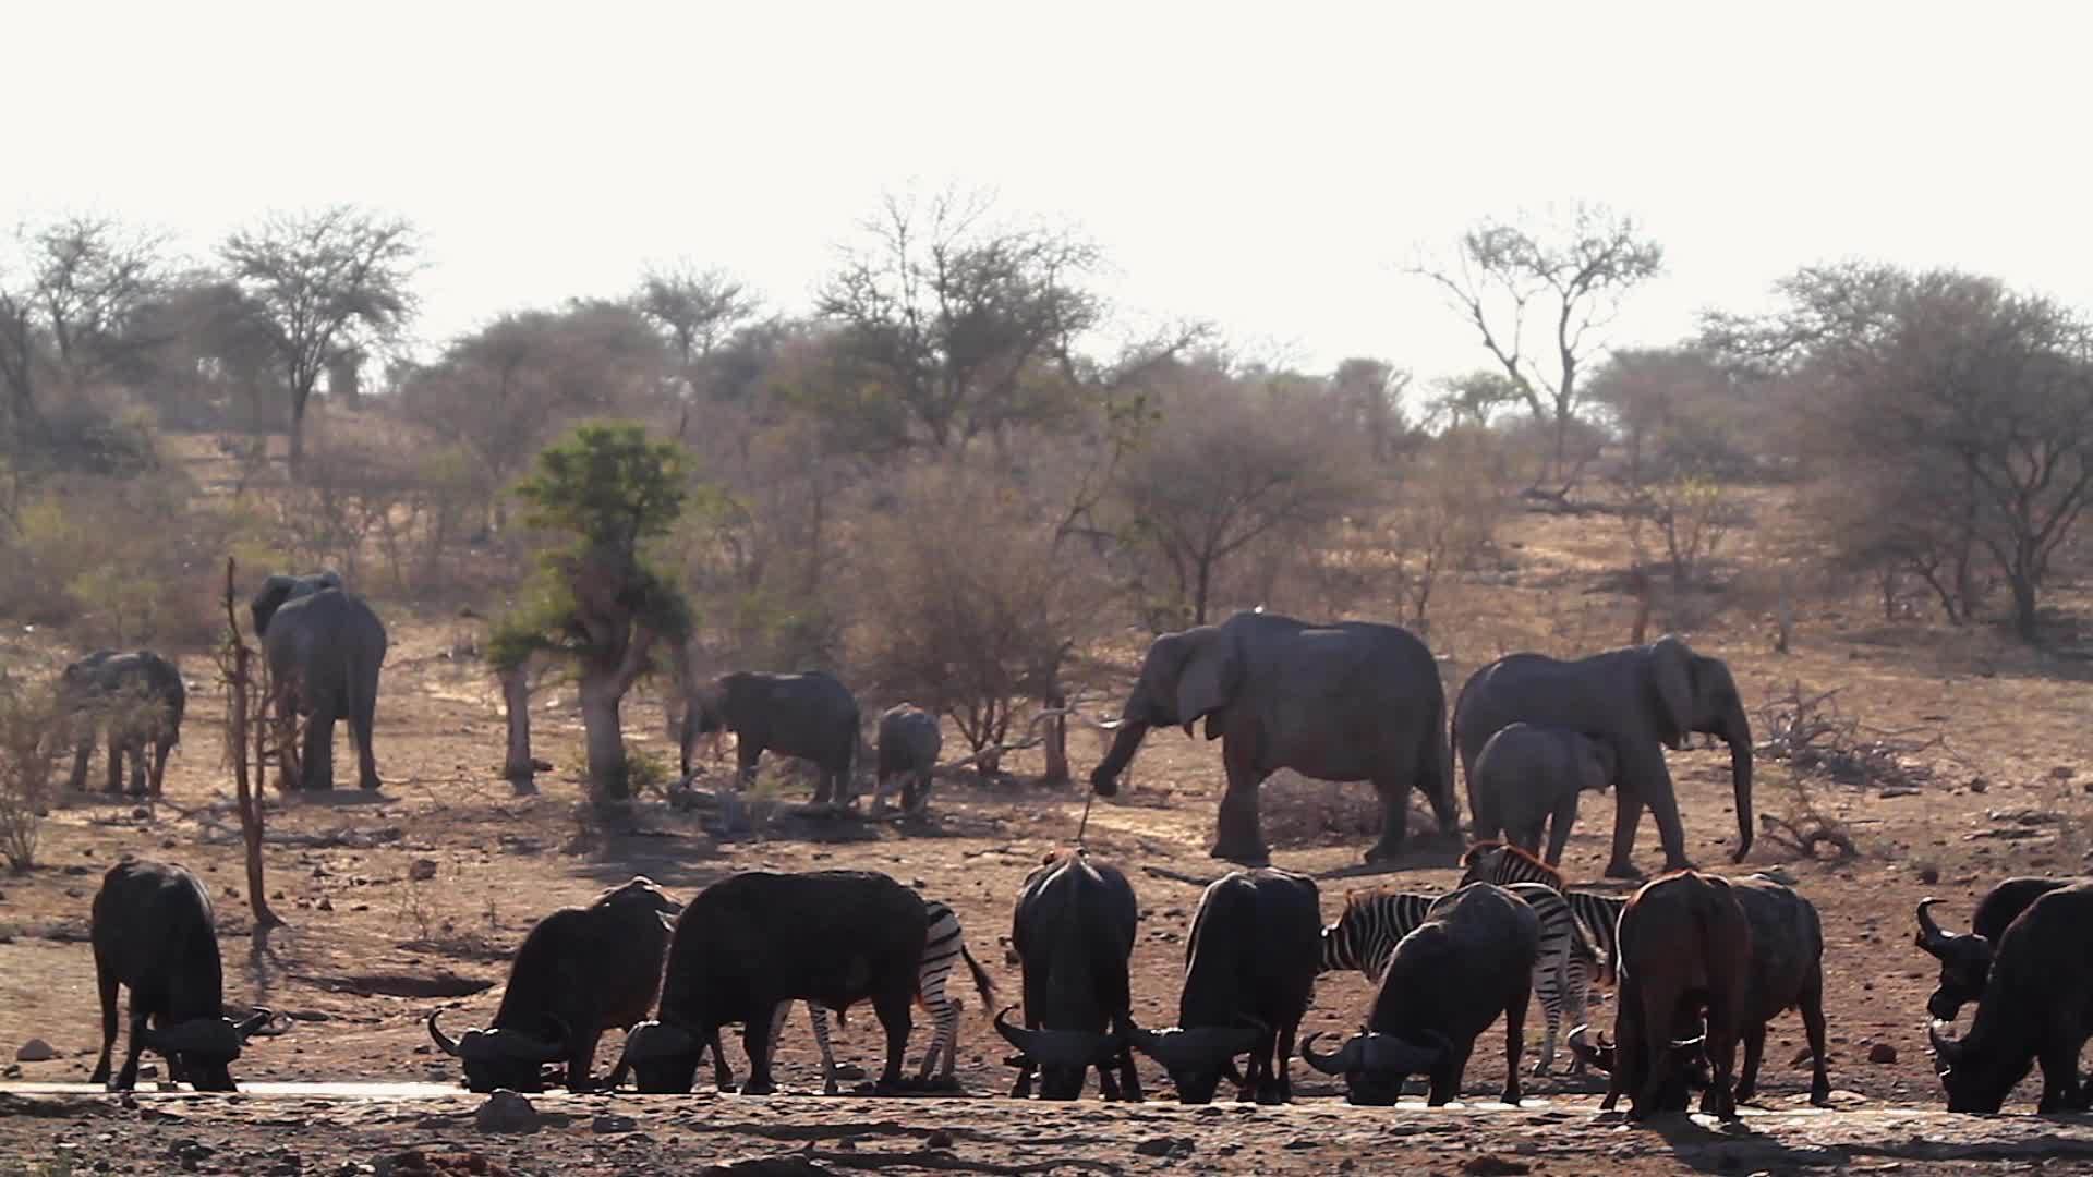
[[(370, 729), (385, 664), (385, 622), (343, 588), (337, 572), (270, 576), (249, 609), (268, 658), (276, 714), (306, 716), (299, 787), (335, 787), (335, 720), (345, 718), (356, 741), (358, 783), (377, 790)], [(289, 756), (285, 764), (289, 777)]]

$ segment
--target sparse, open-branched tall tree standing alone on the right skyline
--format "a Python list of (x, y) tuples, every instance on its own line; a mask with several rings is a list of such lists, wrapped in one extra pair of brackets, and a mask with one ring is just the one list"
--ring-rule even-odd
[(1461, 235), (1450, 262), (1411, 272), (1448, 297), (1534, 421), (1553, 427), (1551, 478), (1561, 482), (1582, 402), (1578, 375), (1628, 291), (1662, 268), (1664, 247), (1635, 218), (1580, 203), (1555, 224), (1484, 220)]

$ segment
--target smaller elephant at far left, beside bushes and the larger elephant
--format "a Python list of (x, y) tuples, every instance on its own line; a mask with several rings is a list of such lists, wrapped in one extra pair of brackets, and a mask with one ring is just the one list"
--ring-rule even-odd
[[(182, 710), (188, 689), (182, 672), (151, 649), (117, 653), (96, 649), (65, 668), (61, 691), (69, 723), (75, 725), (73, 787), (88, 787), (88, 756), (94, 735), (109, 731), (109, 785), (121, 792), (123, 758), (130, 756), (130, 794), (159, 796), (167, 777), (167, 754), (182, 741)], [(151, 767), (147, 746), (153, 746)]]

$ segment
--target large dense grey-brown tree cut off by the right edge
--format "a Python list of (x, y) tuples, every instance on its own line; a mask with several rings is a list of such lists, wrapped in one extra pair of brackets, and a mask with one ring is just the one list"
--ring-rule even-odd
[(1909, 561), (1951, 620), (1972, 605), (1967, 561), (1942, 570), (1982, 553), (2032, 641), (2051, 559), (2093, 498), (2093, 325), (1953, 270), (1810, 268), (1779, 291), (1787, 308), (1710, 318), (1708, 335), (1817, 383), (1804, 436), (1840, 492), (1869, 505), (1833, 519)]

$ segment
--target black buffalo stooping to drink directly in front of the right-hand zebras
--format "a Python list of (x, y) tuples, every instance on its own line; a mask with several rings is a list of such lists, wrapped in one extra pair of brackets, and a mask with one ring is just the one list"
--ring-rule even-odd
[(1352, 1104), (1394, 1104), (1404, 1079), (1430, 1074), (1427, 1100), (1440, 1106), (1461, 1093), (1476, 1039), (1503, 1014), (1503, 1100), (1517, 1104), (1538, 955), (1540, 917), (1509, 890), (1469, 884), (1442, 894), (1390, 953), (1367, 1028), (1325, 1056), (1308, 1035), (1302, 1058), (1323, 1074), (1344, 1074)]

